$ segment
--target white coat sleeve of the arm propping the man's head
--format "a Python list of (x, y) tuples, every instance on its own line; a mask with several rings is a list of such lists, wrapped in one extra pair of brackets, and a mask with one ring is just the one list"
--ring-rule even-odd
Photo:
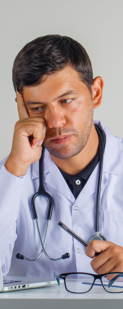
[(2, 274), (9, 272), (12, 251), (17, 239), (16, 220), (25, 176), (17, 177), (10, 174), (0, 162), (0, 260)]

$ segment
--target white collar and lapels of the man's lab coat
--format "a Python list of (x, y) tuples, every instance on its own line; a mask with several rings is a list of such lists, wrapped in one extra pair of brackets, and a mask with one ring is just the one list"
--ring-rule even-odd
[[(103, 125), (100, 121), (94, 121), (97, 125), (101, 126), (106, 135), (104, 161), (103, 161), (103, 173), (101, 187), (107, 182), (108, 174), (122, 174), (122, 164), (119, 150), (119, 143), (116, 137)], [(93, 173), (89, 177), (89, 180), (82, 189), (82, 195), (92, 194), (97, 191), (99, 163), (95, 167)], [(65, 182), (62, 174), (60, 173), (57, 165), (51, 159), (50, 153), (45, 149), (44, 163), (43, 163), (43, 175), (45, 183), (55, 188), (58, 192), (66, 196), (70, 201), (74, 202), (75, 198), (69, 190), (68, 185)], [(39, 177), (39, 161), (32, 164), (32, 179)], [(97, 177), (97, 181), (94, 179)], [(77, 197), (79, 201), (80, 195)]]

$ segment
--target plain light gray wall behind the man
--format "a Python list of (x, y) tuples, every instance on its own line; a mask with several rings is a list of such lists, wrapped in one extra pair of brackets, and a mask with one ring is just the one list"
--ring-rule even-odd
[(0, 160), (12, 146), (18, 121), (12, 83), (14, 58), (29, 41), (46, 34), (70, 36), (86, 49), (93, 76), (102, 76), (104, 91), (94, 119), (123, 136), (123, 1), (0, 1)]

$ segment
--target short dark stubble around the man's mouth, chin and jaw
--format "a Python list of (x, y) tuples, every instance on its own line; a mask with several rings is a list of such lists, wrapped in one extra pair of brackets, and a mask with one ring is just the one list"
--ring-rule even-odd
[(45, 140), (44, 140), (43, 145), (50, 152), (51, 155), (53, 155), (54, 157), (58, 159), (72, 158), (75, 155), (79, 154), (81, 150), (83, 150), (83, 148), (87, 144), (89, 135), (90, 135), (90, 130), (92, 127), (92, 122), (93, 122), (93, 104), (91, 104), (90, 106), (90, 110), (83, 124), (83, 128), (79, 133), (75, 128), (63, 129), (60, 127), (54, 130), (54, 136), (67, 134), (67, 133), (69, 134), (73, 133), (77, 138), (77, 142), (75, 142), (72, 145), (69, 145), (69, 144), (67, 145), (67, 143), (61, 144), (59, 145), (59, 149), (52, 148), (51, 145), (49, 145), (48, 143), (45, 143)]

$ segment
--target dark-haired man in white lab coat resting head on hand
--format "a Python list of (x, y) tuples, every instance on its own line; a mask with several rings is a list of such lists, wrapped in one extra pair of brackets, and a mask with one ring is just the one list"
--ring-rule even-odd
[[(18, 53), (13, 66), (19, 121), (12, 150), (1, 162), (1, 240), (3, 273), (53, 277), (54, 271), (106, 273), (123, 271), (123, 141), (101, 122), (104, 163), (99, 231), (107, 241), (93, 240), (86, 250), (58, 226), (62, 221), (87, 243), (95, 234), (99, 174), (99, 138), (93, 108), (101, 104), (103, 80), (93, 79), (89, 56), (77, 41), (59, 35), (37, 38)], [(42, 253), (31, 212), (39, 187), (39, 159), (45, 147), (43, 181), (54, 200)], [(45, 238), (48, 200), (35, 200), (38, 224)], [(95, 257), (95, 252), (101, 252)], [(11, 266), (10, 266), (11, 265)]]

